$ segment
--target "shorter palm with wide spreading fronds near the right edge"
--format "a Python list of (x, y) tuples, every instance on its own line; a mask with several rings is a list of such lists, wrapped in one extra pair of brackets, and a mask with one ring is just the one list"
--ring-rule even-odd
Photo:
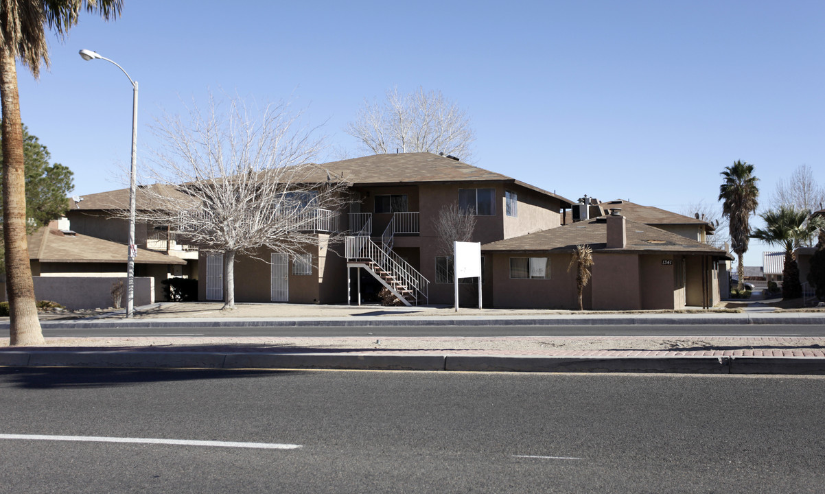
[(799, 283), (799, 266), (794, 250), (809, 242), (820, 228), (825, 226), (821, 216), (811, 216), (808, 209), (794, 206), (780, 206), (759, 215), (765, 220), (766, 228), (757, 228), (753, 238), (759, 238), (771, 245), (785, 247), (785, 265), (782, 267), (782, 298), (798, 299), (802, 296)]

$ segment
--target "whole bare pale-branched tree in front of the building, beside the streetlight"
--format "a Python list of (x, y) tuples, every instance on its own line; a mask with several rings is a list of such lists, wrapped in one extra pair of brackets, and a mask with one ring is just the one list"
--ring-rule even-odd
[[(281, 102), (261, 110), (238, 98), (227, 111), (210, 96), (188, 118), (164, 115), (161, 143), (141, 181), (138, 221), (169, 225), (205, 251), (224, 254), (224, 308), (234, 307), (235, 256), (266, 249), (298, 256), (334, 231), (347, 202), (341, 177), (310, 160), (323, 138)], [(268, 261), (268, 260), (266, 260)]]

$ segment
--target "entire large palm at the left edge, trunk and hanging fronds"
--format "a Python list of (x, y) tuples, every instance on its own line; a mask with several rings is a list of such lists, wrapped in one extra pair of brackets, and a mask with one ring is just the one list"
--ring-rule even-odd
[(123, 0), (0, 0), (3, 241), (12, 346), (44, 341), (26, 241), (26, 176), (16, 61), (37, 78), (40, 67), (49, 66), (46, 26), (63, 37), (78, 23), (81, 11), (99, 12), (110, 19), (120, 14), (122, 5)]

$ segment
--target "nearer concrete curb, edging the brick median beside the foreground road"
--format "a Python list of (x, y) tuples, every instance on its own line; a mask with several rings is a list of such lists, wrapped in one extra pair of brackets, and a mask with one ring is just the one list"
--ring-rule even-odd
[(0, 367), (134, 369), (364, 369), (472, 372), (825, 374), (815, 357), (534, 357), (493, 355), (249, 354), (3, 351)]

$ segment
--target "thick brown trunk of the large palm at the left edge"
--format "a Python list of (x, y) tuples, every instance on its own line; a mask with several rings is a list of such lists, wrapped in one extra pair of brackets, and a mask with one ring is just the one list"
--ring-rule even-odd
[(6, 290), (9, 301), (9, 333), (12, 346), (42, 345), (31, 280), (26, 238), (26, 173), (23, 127), (17, 94), (14, 55), (0, 47), (0, 97), (2, 97), (2, 212), (6, 247)]

